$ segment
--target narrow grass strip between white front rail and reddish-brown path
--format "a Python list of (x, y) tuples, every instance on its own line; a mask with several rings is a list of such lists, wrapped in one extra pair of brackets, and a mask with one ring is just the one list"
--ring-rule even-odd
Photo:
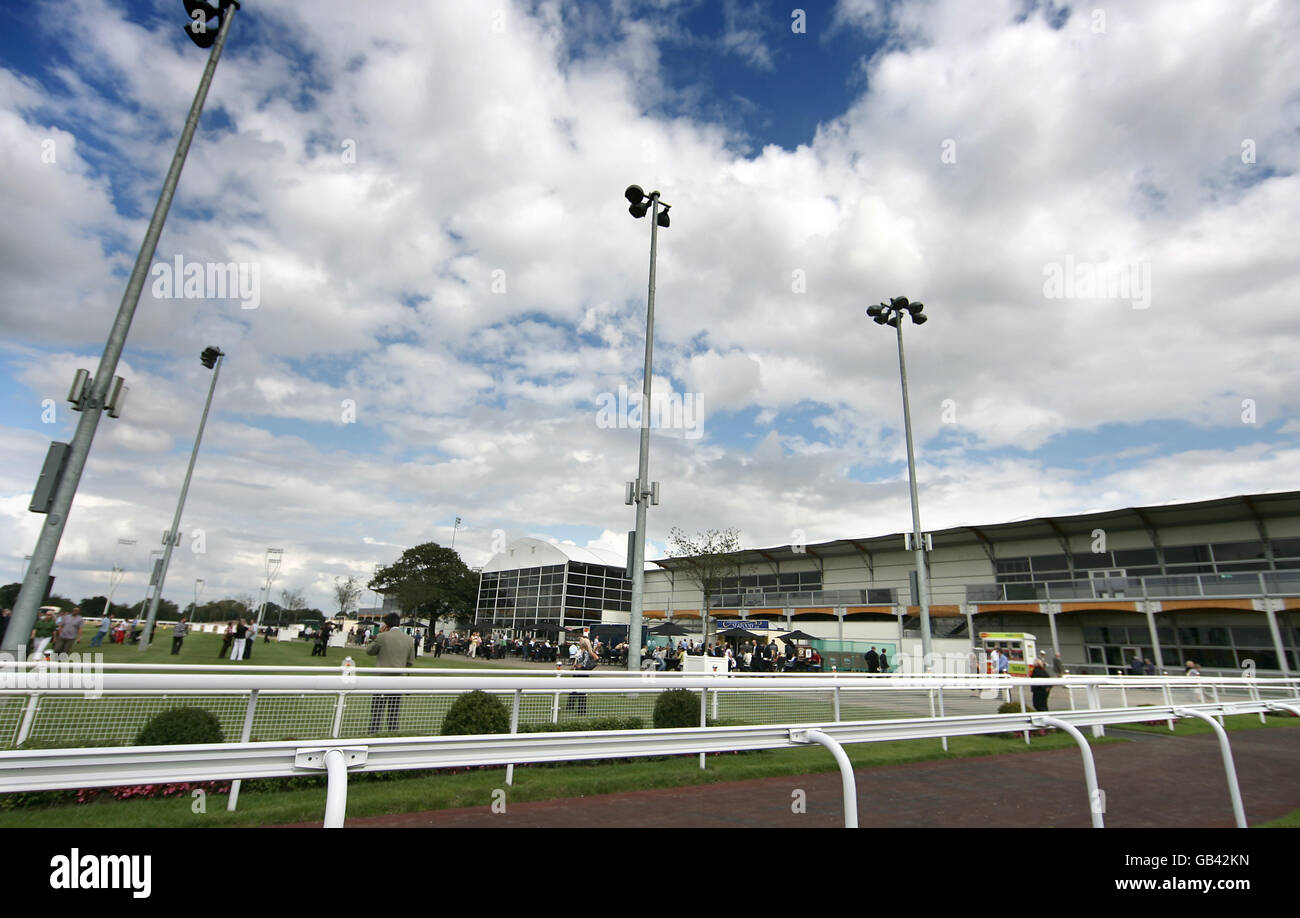
[[(1101, 740), (1100, 742), (1123, 740)], [(905, 765), (928, 759), (1024, 753), (1030, 750), (1075, 748), (1065, 735), (1035, 737), (1034, 746), (1014, 739), (963, 736), (949, 740), (944, 753), (937, 740), (867, 742), (848, 746), (857, 768)], [(835, 759), (820, 746), (772, 749), (740, 755), (710, 755), (708, 767), (699, 768), (696, 755), (660, 761), (634, 761), (614, 765), (569, 765), (558, 767), (520, 766), (515, 784), (507, 789), (511, 801), (554, 800), (647, 788), (715, 784), (753, 778), (803, 775), (835, 771)], [(506, 788), (502, 767), (438, 774), (393, 780), (354, 780), (347, 789), (350, 817), (419, 813), (459, 806), (488, 806), (491, 793)], [(320, 822), (325, 813), (325, 788), (292, 791), (251, 791), (239, 793), (239, 809), (226, 813), (226, 797), (207, 798), (207, 813), (195, 814), (190, 797), (166, 800), (96, 801), (83, 805), (29, 807), (0, 811), (0, 828), (20, 827), (165, 827), (203, 828), (220, 826), (268, 826)]]

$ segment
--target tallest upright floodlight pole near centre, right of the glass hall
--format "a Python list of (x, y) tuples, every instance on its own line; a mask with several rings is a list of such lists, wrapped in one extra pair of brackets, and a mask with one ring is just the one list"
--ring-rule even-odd
[(650, 289), (646, 294), (646, 365), (641, 377), (641, 454), (637, 480), (629, 481), (624, 503), (637, 507), (637, 528), (632, 533), (628, 566), (632, 568), (632, 614), (628, 620), (628, 670), (641, 670), (641, 614), (645, 606), (646, 507), (659, 503), (659, 482), (650, 481), (650, 376), (654, 368), (654, 267), (659, 244), (659, 228), (668, 226), (671, 204), (662, 204), (659, 192), (646, 194), (640, 185), (629, 185), (623, 196), (628, 213), (640, 220), (650, 213)]

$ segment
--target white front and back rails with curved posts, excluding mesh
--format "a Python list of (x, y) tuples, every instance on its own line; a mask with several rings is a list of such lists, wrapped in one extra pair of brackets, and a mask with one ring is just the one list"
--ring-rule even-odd
[[(105, 667), (107, 668), (107, 667)], [(728, 676), (686, 674), (549, 674), (485, 672), (467, 676), (413, 674), (410, 670), (339, 672), (333, 667), (259, 667), (259, 672), (242, 668), (238, 674), (203, 672), (208, 667), (169, 667), (169, 672), (146, 672), (159, 668), (147, 664), (121, 664), (103, 676), (104, 700), (139, 697), (162, 698), (168, 703), (196, 697), (233, 697), (243, 707), (238, 742), (194, 746), (107, 746), (88, 749), (23, 749), (0, 752), (0, 792), (43, 791), (122, 784), (172, 783), (187, 780), (235, 779), (229, 809), (238, 797), (238, 781), (244, 778), (280, 778), (308, 772), (328, 772), (326, 826), (341, 826), (346, 809), (347, 774), (358, 771), (393, 771), (441, 768), (467, 765), (507, 765), (507, 784), (516, 763), (558, 762), (593, 758), (634, 758), (641, 755), (699, 754), (749, 749), (774, 749), (819, 742), (831, 749), (841, 768), (845, 789), (846, 824), (855, 824), (857, 797), (853, 772), (841, 745), (846, 742), (880, 742), (893, 740), (939, 739), (946, 749), (952, 736), (987, 733), (1023, 733), (1043, 727), (1069, 732), (1084, 757), (1084, 778), (1095, 826), (1101, 826), (1101, 809), (1096, 805), (1098, 789), (1092, 753), (1080, 727), (1091, 727), (1093, 736), (1104, 735), (1106, 724), (1167, 722), (1197, 718), (1208, 720), (1218, 733), (1225, 771), (1234, 801), (1238, 824), (1245, 824), (1236, 772), (1227, 735), (1221, 720), (1231, 714), (1257, 714), (1261, 720), (1269, 711), (1300, 715), (1300, 680), (1297, 679), (1205, 679), (1158, 676), (1080, 676), (1066, 679), (1026, 680), (1006, 676), (946, 675), (803, 675), (732, 674)], [(181, 671), (177, 671), (181, 670)], [(393, 675), (369, 675), (369, 674)], [(290, 675), (292, 674), (292, 675)], [(403, 679), (395, 675), (406, 676)], [(987, 705), (997, 698), (1018, 696), (1026, 689), (1057, 687), (1069, 696), (1069, 711), (1034, 713), (1027, 707), (1013, 714), (946, 714), (945, 706)], [(352, 696), (393, 696), (404, 698), (452, 697), (471, 689), (503, 693), (512, 698), (511, 731), (519, 728), (520, 710), (528, 696), (554, 697), (552, 711), (560, 694), (636, 696), (658, 694), (668, 689), (701, 693), (701, 727), (684, 729), (576, 731), (546, 733), (500, 733), (490, 736), (420, 736), (384, 739), (339, 737), (343, 700)], [(10, 692), (12, 693), (12, 692)], [(6, 693), (0, 692), (0, 697)], [(70, 700), (75, 690), (47, 692)], [(1121, 701), (1108, 707), (1104, 696)], [(1179, 700), (1179, 694), (1183, 700)], [(32, 716), (38, 693), (23, 698), (26, 716)], [(333, 733), (317, 739), (295, 739), (252, 742), (251, 727), (259, 697), (329, 698), (335, 705)], [(805, 722), (779, 719), (775, 723), (707, 727), (710, 710), (716, 710), (719, 697), (789, 696), (814, 697), (823, 706), (824, 718)], [(945, 703), (946, 698), (946, 703)], [(1154, 698), (1149, 705), (1132, 703), (1134, 698)], [(712, 709), (710, 706), (712, 701)], [(906, 702), (906, 703), (904, 703)], [(1158, 703), (1156, 703), (1158, 702)], [(265, 702), (264, 702), (265, 703)], [(866, 703), (881, 709), (892, 706), (894, 716), (844, 718), (845, 709)], [(928, 716), (906, 716), (909, 707)], [(552, 714), (554, 716), (554, 714)], [(1216, 722), (1214, 718), (1219, 720)]]

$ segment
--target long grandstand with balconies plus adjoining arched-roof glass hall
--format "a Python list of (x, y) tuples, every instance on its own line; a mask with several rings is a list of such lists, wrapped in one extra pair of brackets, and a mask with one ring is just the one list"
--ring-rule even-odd
[[(1162, 671), (1188, 659), (1261, 675), (1300, 668), (1300, 492), (931, 536), (936, 649), (970, 648), (979, 632), (1028, 632), (1074, 672), (1115, 671), (1135, 654)], [(896, 653), (919, 637), (914, 555), (902, 533), (746, 549), (736, 560), (710, 597), (719, 627), (766, 622), (771, 633), (890, 642)], [(654, 567), (647, 624), (698, 623), (703, 590), (688, 566), (666, 558)], [(621, 557), (520, 540), (484, 568), (478, 618), (502, 627), (627, 623), (629, 586)]]

